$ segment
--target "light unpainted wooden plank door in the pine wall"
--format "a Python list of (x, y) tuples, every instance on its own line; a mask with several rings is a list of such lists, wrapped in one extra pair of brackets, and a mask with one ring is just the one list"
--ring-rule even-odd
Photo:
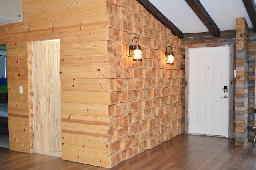
[(32, 44), (34, 150), (61, 151), (60, 42)]

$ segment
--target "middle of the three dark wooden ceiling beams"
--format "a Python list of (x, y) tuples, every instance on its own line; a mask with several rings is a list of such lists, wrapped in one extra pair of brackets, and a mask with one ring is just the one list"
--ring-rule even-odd
[(214, 37), (220, 37), (220, 29), (216, 25), (216, 23), (212, 20), (208, 12), (204, 9), (204, 6), (201, 4), (199, 0), (185, 0), (190, 8), (196, 13), (198, 18), (204, 23), (204, 25), (208, 28), (210, 33)]

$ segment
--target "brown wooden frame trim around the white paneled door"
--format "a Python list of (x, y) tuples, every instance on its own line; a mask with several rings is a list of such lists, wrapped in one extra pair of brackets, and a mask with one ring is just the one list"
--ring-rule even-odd
[(233, 138), (233, 91), (234, 91), (234, 44), (233, 42), (226, 43), (208, 43), (208, 44), (192, 44), (192, 45), (184, 45), (185, 46), (185, 133), (188, 134), (188, 72), (189, 72), (189, 63), (188, 63), (188, 49), (190, 48), (202, 48), (202, 47), (223, 47), (225, 45), (229, 46), (229, 123), (228, 123), (228, 137)]

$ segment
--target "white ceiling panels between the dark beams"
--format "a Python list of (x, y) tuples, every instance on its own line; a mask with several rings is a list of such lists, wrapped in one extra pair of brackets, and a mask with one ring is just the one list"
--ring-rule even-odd
[[(209, 32), (185, 0), (149, 1), (182, 33)], [(200, 0), (200, 2), (220, 31), (234, 30), (237, 17), (245, 17), (249, 28), (252, 28), (252, 23), (242, 0)]]

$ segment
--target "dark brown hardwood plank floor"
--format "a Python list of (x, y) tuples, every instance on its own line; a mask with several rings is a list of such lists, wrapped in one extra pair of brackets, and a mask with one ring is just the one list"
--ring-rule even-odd
[[(26, 154), (0, 148), (1, 170), (108, 170), (54, 156)], [(234, 139), (178, 135), (111, 170), (256, 170), (253, 141), (234, 145)]]

